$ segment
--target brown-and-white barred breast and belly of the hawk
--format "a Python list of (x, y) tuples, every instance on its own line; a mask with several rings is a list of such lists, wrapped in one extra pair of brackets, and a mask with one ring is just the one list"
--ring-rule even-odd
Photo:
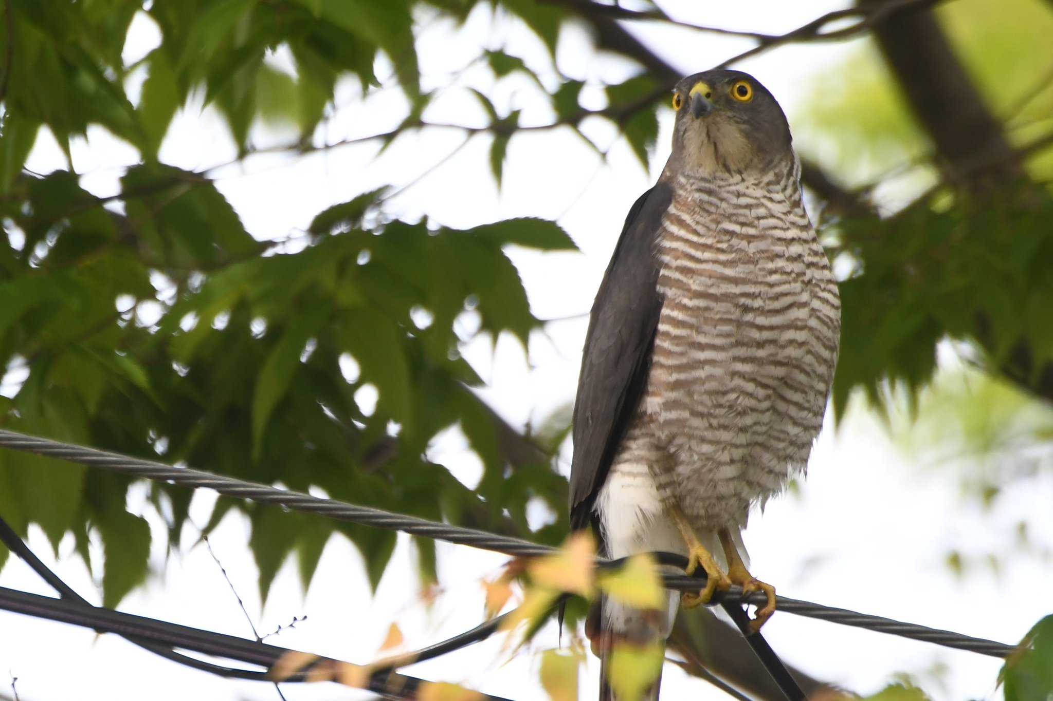
[(698, 528), (743, 525), (806, 468), (837, 358), (837, 286), (796, 162), (679, 176), (657, 255), (664, 304), (629, 437), (648, 436), (659, 496)]

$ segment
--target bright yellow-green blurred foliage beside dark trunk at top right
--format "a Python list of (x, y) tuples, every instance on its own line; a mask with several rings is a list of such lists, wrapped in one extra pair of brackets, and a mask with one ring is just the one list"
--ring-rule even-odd
[[(1049, 131), (1053, 115), (1053, 13), (1042, 0), (955, 0), (936, 15), (985, 100), (1020, 144)], [(794, 121), (801, 150), (850, 185), (897, 184), (909, 195), (934, 181), (931, 144), (870, 40), (820, 73)], [(1045, 122), (1045, 123), (1044, 123)], [(926, 157), (929, 158), (926, 158)], [(1053, 158), (1039, 179), (1053, 177)], [(911, 167), (907, 167), (911, 166)], [(889, 178), (889, 174), (895, 178)], [(899, 181), (902, 179), (902, 182)]]

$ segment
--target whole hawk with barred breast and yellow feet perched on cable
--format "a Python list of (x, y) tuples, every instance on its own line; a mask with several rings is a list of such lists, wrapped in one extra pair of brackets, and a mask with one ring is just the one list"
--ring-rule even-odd
[[(592, 308), (571, 523), (591, 527), (610, 558), (686, 555), (689, 573), (701, 566), (708, 581), (684, 605), (732, 583), (763, 592), (756, 631), (775, 590), (747, 570), (740, 533), (751, 507), (807, 467), (837, 360), (840, 301), (771, 92), (748, 74), (714, 69), (681, 80), (673, 107), (672, 154), (630, 209)], [(677, 603), (671, 594), (656, 615), (604, 601), (594, 650), (664, 640)]]

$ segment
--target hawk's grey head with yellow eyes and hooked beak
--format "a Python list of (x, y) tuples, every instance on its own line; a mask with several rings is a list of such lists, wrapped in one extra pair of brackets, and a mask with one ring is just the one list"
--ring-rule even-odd
[(679, 169), (712, 173), (769, 170), (793, 158), (790, 125), (772, 94), (741, 70), (688, 76), (673, 90), (673, 159)]

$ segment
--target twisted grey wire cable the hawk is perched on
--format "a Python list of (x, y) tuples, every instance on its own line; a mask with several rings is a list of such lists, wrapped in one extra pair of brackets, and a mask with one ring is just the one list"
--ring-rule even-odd
[[(521, 538), (430, 521), (416, 516), (395, 514), (372, 507), (362, 507), (336, 499), (316, 497), (292, 490), (278, 489), (223, 475), (215, 475), (193, 468), (173, 467), (163, 462), (144, 460), (119, 453), (51, 440), (48, 438), (39, 438), (15, 431), (0, 429), (0, 447), (55, 457), (133, 477), (144, 477), (146, 479), (166, 481), (185, 487), (207, 488), (220, 494), (240, 499), (277, 504), (295, 511), (320, 514), (337, 520), (371, 525), (389, 531), (402, 531), (411, 535), (471, 545), (511, 556), (536, 557), (549, 555), (555, 551), (555, 549), (549, 545), (540, 545)], [(677, 566), (682, 566), (687, 563), (687, 560), (680, 556), (664, 555), (668, 555), (668, 557), (663, 559), (663, 563), (675, 564)], [(599, 565), (603, 565), (607, 562), (607, 560), (602, 559), (597, 560), (597, 564)], [(678, 591), (694, 592), (698, 591), (704, 584), (704, 575), (663, 574), (662, 578), (665, 586)], [(713, 602), (721, 604), (724, 602), (763, 604), (764, 601), (762, 594), (757, 593), (743, 597), (740, 587), (732, 586), (721, 595), (715, 596)], [(906, 623), (881, 616), (860, 614), (854, 611), (824, 606), (783, 596), (776, 597), (776, 606), (778, 611), (784, 613), (818, 618), (842, 625), (862, 627), (877, 633), (921, 640), (946, 647), (989, 655), (991, 657), (1005, 658), (1014, 650), (1013, 645), (993, 640), (973, 638), (952, 631), (941, 631), (916, 623)]]

